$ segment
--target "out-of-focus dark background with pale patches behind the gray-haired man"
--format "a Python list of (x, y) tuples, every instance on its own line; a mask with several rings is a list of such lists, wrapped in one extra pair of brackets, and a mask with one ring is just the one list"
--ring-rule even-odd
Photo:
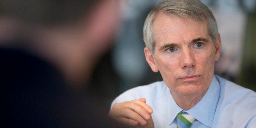
[[(109, 104), (125, 90), (161, 81), (144, 57), (142, 28), (149, 11), (161, 0), (123, 0), (123, 23), (115, 45), (100, 60), (91, 89)], [(216, 17), (222, 39), (215, 74), (256, 91), (256, 0), (201, 0)], [(96, 86), (93, 86), (96, 85)]]

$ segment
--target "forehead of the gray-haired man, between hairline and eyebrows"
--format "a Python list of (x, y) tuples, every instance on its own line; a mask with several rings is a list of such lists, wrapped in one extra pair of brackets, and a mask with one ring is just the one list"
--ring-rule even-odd
[(207, 22), (159, 13), (153, 24), (156, 45), (161, 42), (189, 42), (195, 38), (210, 38)]

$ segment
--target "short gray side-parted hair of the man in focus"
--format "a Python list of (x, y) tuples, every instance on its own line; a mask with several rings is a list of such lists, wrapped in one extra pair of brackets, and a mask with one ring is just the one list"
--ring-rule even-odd
[(154, 38), (153, 24), (158, 13), (165, 13), (171, 16), (184, 17), (196, 22), (207, 21), (207, 31), (214, 45), (218, 35), (218, 26), (212, 11), (199, 0), (163, 0), (157, 4), (156, 8), (148, 14), (143, 27), (143, 40), (146, 47), (154, 55), (156, 41)]

